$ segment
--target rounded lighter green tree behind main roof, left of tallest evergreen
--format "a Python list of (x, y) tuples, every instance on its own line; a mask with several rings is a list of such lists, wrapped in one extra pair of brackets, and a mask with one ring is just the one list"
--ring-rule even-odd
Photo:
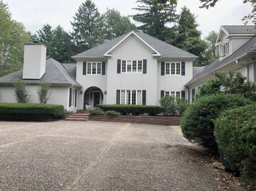
[(121, 16), (121, 13), (115, 9), (107, 9), (107, 12), (101, 15), (100, 26), (101, 36), (104, 41), (136, 31), (136, 26), (131, 23), (129, 17)]

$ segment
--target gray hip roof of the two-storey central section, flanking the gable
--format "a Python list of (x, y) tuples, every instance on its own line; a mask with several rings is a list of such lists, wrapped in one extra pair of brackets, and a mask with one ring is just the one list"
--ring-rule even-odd
[[(183, 51), (179, 48), (176, 48), (173, 45), (169, 45), (157, 38), (151, 37), (143, 32), (136, 32), (143, 40), (145, 40), (150, 46), (152, 46), (156, 51), (162, 54), (162, 57), (191, 57), (196, 58), (195, 55), (190, 54), (189, 52)], [(108, 50), (115, 46), (121, 39), (123, 39), (127, 34), (115, 38), (114, 40), (108, 41), (102, 45), (96, 46), (88, 51), (84, 51), (80, 54), (74, 56), (76, 57), (103, 57)]]

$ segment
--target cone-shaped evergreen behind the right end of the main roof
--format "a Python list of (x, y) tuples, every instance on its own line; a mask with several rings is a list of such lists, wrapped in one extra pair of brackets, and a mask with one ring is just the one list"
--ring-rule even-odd
[(207, 44), (201, 39), (201, 32), (197, 27), (195, 14), (191, 13), (188, 7), (182, 7), (172, 45), (198, 56), (194, 64), (200, 66), (206, 65), (204, 52)]

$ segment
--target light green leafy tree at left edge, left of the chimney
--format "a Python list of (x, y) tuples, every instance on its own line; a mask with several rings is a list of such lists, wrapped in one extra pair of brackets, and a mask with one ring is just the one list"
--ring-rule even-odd
[(30, 34), (11, 18), (7, 4), (0, 0), (0, 77), (22, 69), (24, 44)]

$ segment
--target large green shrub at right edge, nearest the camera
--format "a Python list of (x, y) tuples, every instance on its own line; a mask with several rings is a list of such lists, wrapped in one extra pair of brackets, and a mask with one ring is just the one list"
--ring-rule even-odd
[(229, 162), (256, 184), (256, 103), (223, 111), (214, 123), (218, 145)]

